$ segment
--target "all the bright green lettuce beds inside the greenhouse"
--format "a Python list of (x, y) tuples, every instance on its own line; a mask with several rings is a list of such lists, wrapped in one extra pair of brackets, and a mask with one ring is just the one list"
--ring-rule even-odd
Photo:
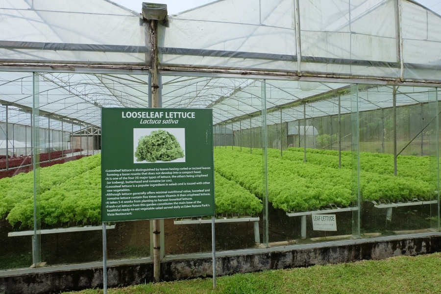
[[(256, 216), (262, 212), (264, 187), (272, 206), (286, 212), (317, 210), (333, 203), (353, 205), (358, 191), (362, 200), (431, 200), (437, 190), (437, 172), (430, 157), (399, 156), (398, 176), (393, 175), (389, 154), (337, 151), (268, 149), (264, 173), (262, 150), (228, 147), (215, 149), (216, 213), (223, 216)], [(266, 176), (264, 177), (264, 174)], [(38, 210), (42, 226), (98, 224), (101, 220), (100, 154), (41, 168)], [(15, 228), (34, 223), (34, 173), (0, 179), (0, 219)], [(264, 185), (267, 181), (268, 185)], [(37, 193), (38, 194), (38, 193)]]

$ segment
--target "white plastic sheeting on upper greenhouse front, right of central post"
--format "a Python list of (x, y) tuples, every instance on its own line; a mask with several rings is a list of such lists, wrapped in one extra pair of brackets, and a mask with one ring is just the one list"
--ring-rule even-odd
[(400, 78), (400, 20), (404, 78), (441, 81), (440, 15), (412, 0), (296, 1), (220, 0), (170, 16), (159, 26), (160, 62)]

